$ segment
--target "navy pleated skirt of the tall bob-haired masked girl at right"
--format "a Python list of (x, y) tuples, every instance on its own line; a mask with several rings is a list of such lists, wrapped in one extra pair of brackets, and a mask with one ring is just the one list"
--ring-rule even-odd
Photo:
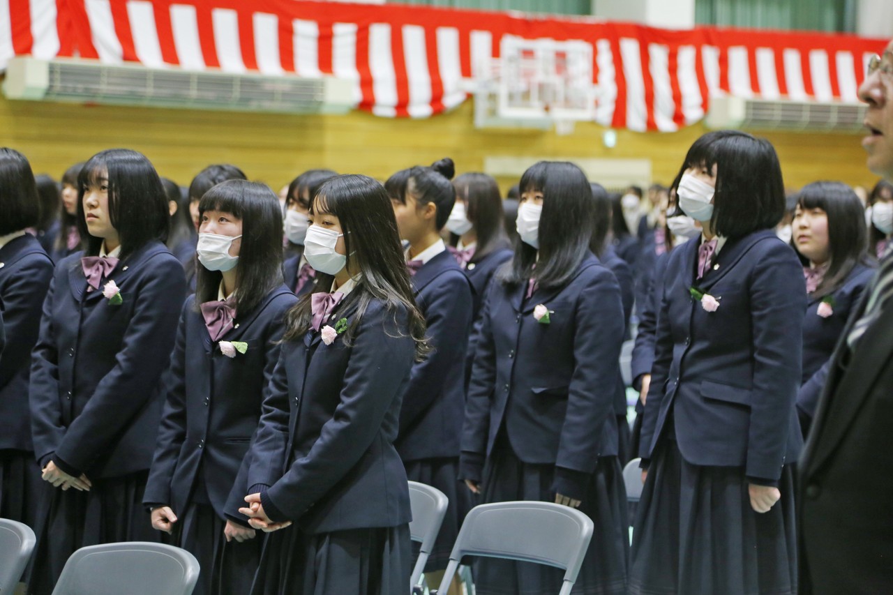
[(794, 595), (793, 487), (785, 467), (781, 499), (757, 513), (743, 468), (691, 465), (664, 438), (638, 503), (630, 593)]

